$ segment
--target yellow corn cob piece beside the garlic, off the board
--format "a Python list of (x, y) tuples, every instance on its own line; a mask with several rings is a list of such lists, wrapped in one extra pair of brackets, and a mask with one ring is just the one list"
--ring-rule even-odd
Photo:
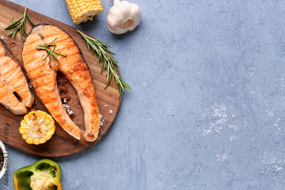
[(65, 2), (75, 25), (93, 21), (93, 16), (103, 11), (100, 0), (66, 0)]

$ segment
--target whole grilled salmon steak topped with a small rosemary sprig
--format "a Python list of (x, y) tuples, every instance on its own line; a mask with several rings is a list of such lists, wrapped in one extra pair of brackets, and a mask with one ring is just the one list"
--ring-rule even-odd
[[(48, 64), (50, 56), (44, 60), (47, 52), (36, 49), (36, 46), (49, 44), (53, 40), (53, 44), (56, 44), (54, 51), (66, 57), (58, 56), (59, 63), (53, 58)], [(50, 49), (53, 50), (54, 47), (52, 46)], [(32, 28), (25, 39), (22, 61), (39, 99), (58, 124), (79, 140), (80, 128), (66, 113), (57, 87), (57, 71), (61, 71), (65, 75), (77, 91), (84, 110), (84, 138), (89, 142), (96, 140), (99, 133), (100, 116), (93, 80), (81, 50), (73, 38), (57, 26), (38, 24)]]

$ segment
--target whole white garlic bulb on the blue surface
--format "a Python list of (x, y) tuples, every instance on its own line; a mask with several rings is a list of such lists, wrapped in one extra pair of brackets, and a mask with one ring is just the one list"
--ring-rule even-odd
[(114, 0), (107, 17), (109, 30), (114, 34), (123, 34), (133, 30), (139, 25), (142, 18), (142, 10), (139, 5), (128, 1)]

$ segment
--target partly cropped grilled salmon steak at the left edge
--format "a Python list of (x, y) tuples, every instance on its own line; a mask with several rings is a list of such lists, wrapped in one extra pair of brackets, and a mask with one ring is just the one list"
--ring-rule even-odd
[[(22, 99), (19, 101), (13, 92)], [(32, 107), (32, 95), (20, 63), (9, 46), (0, 39), (0, 103), (16, 115), (26, 114)]]

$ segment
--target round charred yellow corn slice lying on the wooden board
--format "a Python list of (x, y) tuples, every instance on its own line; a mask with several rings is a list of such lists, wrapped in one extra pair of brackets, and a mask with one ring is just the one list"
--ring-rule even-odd
[(28, 144), (41, 144), (49, 140), (55, 131), (54, 119), (44, 111), (31, 111), (21, 121), (19, 132)]

